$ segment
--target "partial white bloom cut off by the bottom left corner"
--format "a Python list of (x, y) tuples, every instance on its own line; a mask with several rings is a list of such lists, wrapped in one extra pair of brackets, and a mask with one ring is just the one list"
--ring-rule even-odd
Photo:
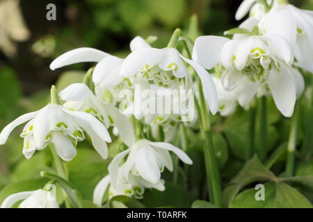
[(55, 185), (47, 185), (47, 189), (12, 194), (3, 200), (1, 208), (12, 208), (19, 200), (23, 200), (19, 208), (59, 208)]

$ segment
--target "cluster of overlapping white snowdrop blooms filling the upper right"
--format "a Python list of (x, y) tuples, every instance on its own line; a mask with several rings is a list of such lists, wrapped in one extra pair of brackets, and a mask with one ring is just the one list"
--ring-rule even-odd
[[(254, 2), (243, 1), (237, 18), (241, 18)], [(292, 15), (292, 22), (282, 22), (285, 17), (290, 19), (289, 15)], [(312, 64), (312, 53), (305, 55), (310, 44), (305, 44), (305, 51), (299, 49), (296, 36), (299, 31), (310, 35), (313, 31), (310, 22), (313, 19), (308, 12), (275, 1), (269, 12), (244, 22), (240, 26), (243, 31), (235, 33), (232, 40), (198, 37), (193, 60), (206, 69), (217, 66), (222, 73), (223, 88), (232, 92), (242, 107), (247, 107), (256, 94), (271, 94), (278, 110), (285, 117), (291, 117), (296, 99), (304, 89), (303, 76), (293, 65), (307, 67), (305, 64)]]

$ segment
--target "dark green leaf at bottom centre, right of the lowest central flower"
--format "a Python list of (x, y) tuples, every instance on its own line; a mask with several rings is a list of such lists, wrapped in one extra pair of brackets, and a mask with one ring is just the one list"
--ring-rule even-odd
[(195, 198), (183, 187), (166, 182), (166, 190), (151, 189), (145, 192), (143, 205), (146, 207), (190, 207)]

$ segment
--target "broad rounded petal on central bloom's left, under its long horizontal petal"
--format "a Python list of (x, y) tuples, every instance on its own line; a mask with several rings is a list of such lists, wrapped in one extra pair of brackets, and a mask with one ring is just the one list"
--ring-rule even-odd
[(97, 63), (93, 71), (93, 82), (99, 85), (102, 89), (111, 89), (122, 82), (120, 77), (120, 67), (123, 60), (108, 56)]

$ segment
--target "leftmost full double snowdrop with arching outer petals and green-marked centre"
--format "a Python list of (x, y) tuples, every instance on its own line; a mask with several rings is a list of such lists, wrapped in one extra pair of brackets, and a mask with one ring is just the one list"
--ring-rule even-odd
[[(51, 94), (57, 95), (54, 87)], [(26, 121), (29, 122), (26, 123), (21, 137), (24, 138), (23, 153), (27, 159), (36, 150), (54, 144), (56, 153), (63, 160), (72, 160), (76, 155), (77, 142), (85, 139), (83, 131), (90, 135), (99, 155), (104, 159), (108, 156), (106, 142), (111, 142), (111, 137), (105, 126), (91, 114), (67, 110), (58, 104), (49, 104), (41, 110), (15, 119), (2, 130), (0, 144), (5, 144), (13, 129)]]

